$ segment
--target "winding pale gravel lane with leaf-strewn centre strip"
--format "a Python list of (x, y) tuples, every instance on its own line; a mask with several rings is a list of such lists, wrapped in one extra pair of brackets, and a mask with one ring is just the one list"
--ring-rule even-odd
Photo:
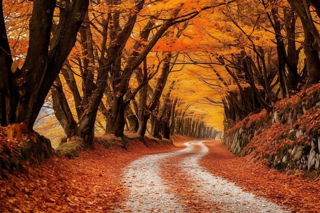
[(184, 145), (131, 162), (123, 171), (130, 194), (115, 212), (291, 212), (205, 171), (198, 162), (209, 153), (203, 141)]

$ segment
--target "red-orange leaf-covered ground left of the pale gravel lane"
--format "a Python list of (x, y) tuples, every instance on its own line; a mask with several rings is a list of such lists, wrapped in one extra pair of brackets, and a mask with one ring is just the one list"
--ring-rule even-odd
[(179, 148), (131, 141), (127, 150), (105, 149), (82, 152), (74, 159), (51, 158), (35, 167), (0, 178), (0, 212), (11, 213), (105, 213), (122, 207), (127, 191), (122, 168), (148, 154)]

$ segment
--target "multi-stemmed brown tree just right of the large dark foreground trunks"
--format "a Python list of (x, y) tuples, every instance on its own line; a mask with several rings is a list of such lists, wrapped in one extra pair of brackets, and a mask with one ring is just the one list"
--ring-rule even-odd
[[(56, 84), (60, 89), (56, 88), (55, 85), (52, 89), (53, 100), (58, 101), (56, 107), (59, 107), (63, 112), (58, 112), (59, 109), (57, 108), (56, 116), (62, 127), (64, 127), (67, 137), (73, 135), (83, 137), (85, 144), (94, 148), (94, 125), (104, 92), (110, 86), (108, 85), (108, 78), (111, 78), (112, 86), (117, 85), (112, 82), (112, 77), (117, 72), (121, 72), (121, 67), (119, 66), (121, 54), (132, 33), (136, 18), (143, 8), (143, 3), (144, 1), (139, 1), (132, 6), (133, 8), (128, 8), (135, 11), (128, 16), (121, 15), (123, 11), (118, 8), (120, 1), (112, 2), (112, 4), (108, 3), (110, 9), (106, 17), (102, 16), (99, 20), (95, 18), (95, 11), (93, 14), (86, 14), (87, 22), (80, 30), (81, 39), (79, 43), (82, 53), (76, 54), (80, 70), (79, 76), (82, 77), (82, 97), (76, 81), (73, 80), (75, 77), (73, 67), (69, 65), (70, 63), (66, 63), (65, 68), (62, 70), (64, 79), (74, 95), (78, 122), (74, 119), (68, 104), (61, 104), (67, 103), (67, 101), (64, 94), (58, 92), (59, 90), (62, 91), (62, 86), (59, 84), (58, 79)], [(89, 21), (91, 16), (97, 20), (97, 23)], [(120, 26), (122, 21), (126, 22), (124, 28)], [(100, 28), (97, 28), (97, 25)], [(100, 39), (101, 37), (94, 39), (93, 34), (98, 34), (103, 39)], [(98, 48), (98, 45), (100, 45), (100, 48)], [(95, 74), (95, 69), (97, 69), (97, 74)], [(108, 114), (107, 110), (105, 110), (105, 113)]]

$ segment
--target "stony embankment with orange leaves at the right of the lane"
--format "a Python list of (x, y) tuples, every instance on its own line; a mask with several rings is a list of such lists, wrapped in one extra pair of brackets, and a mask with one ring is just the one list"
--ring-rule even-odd
[(250, 114), (224, 133), (237, 155), (250, 155), (278, 170), (320, 173), (320, 84), (276, 103), (271, 112)]

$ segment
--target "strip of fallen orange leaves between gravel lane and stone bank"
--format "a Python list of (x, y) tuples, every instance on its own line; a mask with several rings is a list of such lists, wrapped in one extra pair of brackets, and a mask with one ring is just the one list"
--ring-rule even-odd
[(261, 161), (251, 160), (249, 155), (235, 156), (218, 142), (208, 142), (205, 145), (209, 148), (210, 154), (204, 156), (200, 164), (214, 175), (234, 182), (244, 191), (285, 205), (292, 213), (320, 212), (320, 185), (314, 180), (269, 169)]

